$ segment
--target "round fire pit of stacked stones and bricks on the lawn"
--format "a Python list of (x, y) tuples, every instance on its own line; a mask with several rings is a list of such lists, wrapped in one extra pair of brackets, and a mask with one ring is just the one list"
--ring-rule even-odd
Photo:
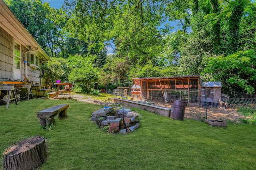
[(124, 113), (119, 109), (115, 113), (114, 107), (104, 107), (92, 113), (91, 121), (109, 133), (128, 133), (140, 127), (139, 116), (131, 109), (124, 109)]

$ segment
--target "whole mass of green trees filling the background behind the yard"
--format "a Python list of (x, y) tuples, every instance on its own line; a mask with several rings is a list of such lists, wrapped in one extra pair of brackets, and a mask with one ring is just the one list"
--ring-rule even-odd
[(91, 77), (84, 80), (106, 88), (136, 76), (200, 74), (230, 96), (255, 92), (254, 1), (65, 0), (60, 9), (5, 2), (50, 57), (67, 62), (65, 80)]

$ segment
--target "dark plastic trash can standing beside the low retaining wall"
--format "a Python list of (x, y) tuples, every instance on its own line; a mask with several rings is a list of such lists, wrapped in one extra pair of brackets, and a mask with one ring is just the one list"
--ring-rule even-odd
[(170, 117), (172, 119), (183, 120), (187, 103), (179, 100), (173, 100), (171, 104)]

